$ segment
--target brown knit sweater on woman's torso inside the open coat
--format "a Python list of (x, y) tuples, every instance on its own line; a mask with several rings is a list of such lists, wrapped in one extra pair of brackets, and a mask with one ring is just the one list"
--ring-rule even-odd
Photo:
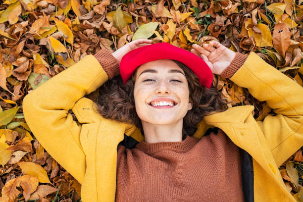
[(200, 140), (117, 147), (116, 202), (244, 202), (240, 149), (222, 130)]

